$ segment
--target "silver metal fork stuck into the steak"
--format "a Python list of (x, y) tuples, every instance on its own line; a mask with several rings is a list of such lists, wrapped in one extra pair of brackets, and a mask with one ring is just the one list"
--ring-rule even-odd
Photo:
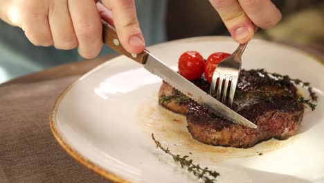
[[(221, 101), (224, 105), (228, 105), (228, 107), (232, 107), (235, 89), (237, 87), (237, 80), (240, 76), (241, 65), (242, 65), (242, 54), (246, 47), (247, 43), (240, 44), (237, 49), (227, 58), (220, 62), (214, 73), (213, 78), (210, 83), (210, 96), (216, 97), (218, 101)], [(218, 87), (217, 85), (218, 80)], [(231, 84), (229, 84), (231, 82)], [(216, 92), (217, 87), (217, 92)], [(229, 96), (226, 101), (226, 96)], [(215, 94), (216, 93), (216, 94)], [(227, 103), (226, 103), (227, 102)]]

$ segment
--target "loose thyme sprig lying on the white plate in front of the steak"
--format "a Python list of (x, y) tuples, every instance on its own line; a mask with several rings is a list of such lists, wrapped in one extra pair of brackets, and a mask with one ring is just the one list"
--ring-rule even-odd
[(194, 164), (192, 159), (189, 159), (189, 156), (187, 155), (181, 157), (180, 155), (174, 155), (173, 153), (170, 153), (169, 148), (163, 148), (161, 143), (154, 138), (154, 134), (152, 134), (152, 139), (156, 144), (156, 148), (160, 148), (164, 151), (164, 153), (171, 155), (174, 162), (179, 162), (181, 168), (186, 167), (188, 171), (192, 173), (192, 175), (195, 175), (199, 180), (203, 180), (205, 183), (213, 183), (216, 181), (216, 177), (219, 176), (219, 173), (217, 173), (216, 171), (210, 171), (208, 167), (201, 168), (199, 164)]

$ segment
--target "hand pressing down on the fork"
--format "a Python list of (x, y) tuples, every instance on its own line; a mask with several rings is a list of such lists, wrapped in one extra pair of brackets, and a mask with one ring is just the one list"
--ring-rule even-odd
[(238, 43), (252, 39), (253, 24), (270, 28), (281, 19), (280, 11), (270, 0), (210, 0), (210, 3)]

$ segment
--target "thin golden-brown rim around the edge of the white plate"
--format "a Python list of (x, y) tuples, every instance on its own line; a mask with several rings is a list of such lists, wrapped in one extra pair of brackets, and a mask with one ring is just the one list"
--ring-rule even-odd
[[(197, 40), (203, 42), (203, 41), (210, 41), (210, 40), (215, 40), (215, 41), (228, 41), (228, 40), (232, 40), (231, 37), (229, 36), (200, 36), (200, 37), (190, 37), (190, 38), (183, 38), (180, 40), (172, 40), (170, 42), (163, 42), (161, 44), (155, 44), (153, 46), (149, 46), (147, 47), (149, 50), (151, 49), (159, 49), (161, 46), (164, 46), (165, 44), (174, 44), (174, 43), (183, 43), (183, 42), (197, 42)], [(316, 55), (312, 55), (311, 53), (304, 51), (302, 49), (296, 48), (294, 46), (289, 46), (287, 44), (282, 44), (282, 43), (278, 43), (278, 42), (269, 42), (267, 40), (260, 40), (260, 39), (253, 39), (253, 41), (255, 42), (261, 42), (264, 44), (274, 44), (276, 46), (283, 46), (285, 47), (285, 49), (290, 49), (293, 51), (297, 51), (298, 53), (301, 53), (303, 55), (307, 55), (308, 57), (312, 58), (313, 60), (316, 60), (317, 62), (319, 62), (320, 64), (324, 65), (324, 60), (322, 60), (321, 58), (319, 58)], [(103, 62), (102, 64), (99, 64), (97, 67), (91, 69), (91, 71), (84, 73), (83, 76), (79, 77), (78, 79), (76, 79), (75, 81), (73, 81), (71, 83), (71, 85), (69, 85), (68, 87), (66, 87), (66, 89), (63, 90), (63, 92), (57, 97), (57, 100), (55, 101), (53, 107), (51, 108), (51, 112), (50, 112), (50, 116), (49, 116), (49, 125), (51, 128), (51, 132), (53, 134), (53, 136), (55, 137), (56, 141), (60, 144), (60, 146), (66, 151), (66, 153), (68, 155), (70, 155), (71, 157), (73, 157), (73, 159), (75, 159), (78, 163), (82, 164), (83, 166), (89, 168), (91, 171), (93, 171), (94, 173), (98, 173), (98, 175), (101, 175), (102, 177), (105, 177), (107, 180), (111, 180), (113, 182), (118, 182), (118, 183), (125, 183), (125, 182), (132, 182), (130, 180), (126, 180), (125, 178), (123, 178), (120, 175), (117, 175), (116, 173), (112, 173), (111, 171), (107, 171), (107, 169), (102, 168), (101, 166), (99, 166), (98, 164), (95, 164), (93, 162), (91, 162), (91, 160), (87, 159), (86, 157), (84, 157), (83, 155), (81, 155), (80, 153), (78, 153), (77, 150), (74, 150), (71, 145), (69, 145), (66, 140), (64, 140), (64, 138), (62, 137), (62, 135), (60, 134), (60, 132), (57, 130), (55, 123), (57, 123), (56, 121), (56, 116), (57, 116), (57, 109), (62, 101), (62, 99), (64, 98), (64, 96), (66, 96), (66, 94), (72, 89), (72, 87), (80, 80), (80, 78), (83, 78), (87, 75), (89, 75), (90, 73), (93, 73), (94, 71), (96, 71), (98, 68), (102, 67), (103, 65), (107, 64), (107, 62), (116, 62), (117, 60), (120, 59), (124, 59), (126, 58), (124, 55), (120, 55), (116, 58), (112, 58), (110, 60), (107, 60), (106, 62)]]

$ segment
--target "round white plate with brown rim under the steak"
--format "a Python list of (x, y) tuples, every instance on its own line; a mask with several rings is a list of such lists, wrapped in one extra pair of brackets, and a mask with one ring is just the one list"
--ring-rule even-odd
[[(231, 52), (229, 37), (196, 37), (149, 50), (177, 68), (179, 55), (196, 50), (207, 58)], [(311, 82), (318, 107), (305, 111), (299, 133), (249, 149), (208, 146), (193, 140), (183, 116), (157, 101), (161, 80), (123, 56), (101, 64), (62, 93), (51, 113), (51, 129), (72, 157), (116, 182), (197, 182), (172, 157), (156, 149), (150, 134), (171, 152), (218, 171), (218, 182), (324, 182), (324, 65), (288, 46), (260, 40), (249, 43), (243, 68), (264, 68)], [(262, 155), (259, 155), (262, 153)]]

